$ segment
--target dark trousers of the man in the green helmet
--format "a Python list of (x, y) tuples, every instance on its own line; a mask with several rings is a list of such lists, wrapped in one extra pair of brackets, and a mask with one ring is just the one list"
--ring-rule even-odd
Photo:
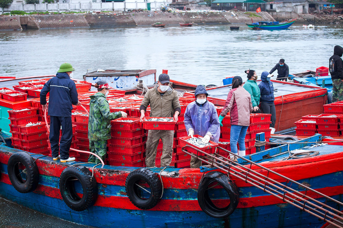
[[(60, 129), (62, 126), (62, 137), (60, 138)], [(50, 116), (50, 145), (53, 158), (61, 155), (61, 159), (69, 158), (69, 149), (73, 138), (73, 128), (71, 117)], [(60, 143), (60, 145), (58, 145)]]

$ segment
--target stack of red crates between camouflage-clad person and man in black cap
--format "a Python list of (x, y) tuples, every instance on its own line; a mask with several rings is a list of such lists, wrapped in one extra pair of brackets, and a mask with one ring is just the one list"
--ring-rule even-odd
[[(132, 122), (125, 122), (132, 121)], [(107, 162), (116, 166), (145, 166), (144, 130), (139, 118), (111, 121), (111, 139), (107, 140)]]

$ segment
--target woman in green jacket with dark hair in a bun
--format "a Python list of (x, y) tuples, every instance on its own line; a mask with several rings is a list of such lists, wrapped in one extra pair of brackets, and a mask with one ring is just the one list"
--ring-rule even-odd
[(261, 113), (258, 105), (260, 104), (260, 88), (258, 87), (256, 80), (257, 80), (257, 73), (255, 70), (246, 70), (245, 73), (248, 75), (248, 80), (244, 83), (243, 88), (250, 93), (251, 102), (253, 107), (252, 113)]

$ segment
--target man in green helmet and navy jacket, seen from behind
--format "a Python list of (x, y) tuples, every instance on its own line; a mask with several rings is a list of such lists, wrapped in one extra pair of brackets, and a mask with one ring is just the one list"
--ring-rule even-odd
[[(57, 161), (59, 158), (61, 162), (75, 160), (75, 158), (69, 157), (69, 149), (73, 137), (71, 123), (72, 104), (80, 105), (75, 82), (70, 79), (74, 70), (70, 63), (63, 63), (57, 71), (56, 77), (47, 81), (42, 91), (40, 91), (40, 104), (43, 106), (43, 110), (48, 108), (46, 95), (50, 92), (48, 109), (48, 115), (50, 116), (49, 140), (54, 161)], [(61, 126), (62, 137), (59, 140)]]

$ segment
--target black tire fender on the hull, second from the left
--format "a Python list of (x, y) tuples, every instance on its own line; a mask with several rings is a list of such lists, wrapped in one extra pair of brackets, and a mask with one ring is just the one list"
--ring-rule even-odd
[[(81, 183), (83, 196), (80, 198), (74, 189), (75, 178)], [(92, 206), (98, 196), (96, 180), (85, 166), (69, 166), (60, 176), (60, 193), (64, 202), (74, 211), (84, 211)]]

